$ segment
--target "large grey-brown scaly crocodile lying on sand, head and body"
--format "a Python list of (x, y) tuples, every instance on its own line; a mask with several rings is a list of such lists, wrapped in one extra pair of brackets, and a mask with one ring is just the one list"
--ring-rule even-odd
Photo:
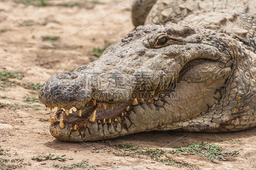
[[(253, 2), (148, 4), (132, 11), (134, 25), (144, 26), (99, 60), (42, 85), (39, 100), (59, 107), (50, 118), (52, 136), (92, 141), (150, 130), (228, 132), (256, 126)], [(136, 18), (134, 13), (144, 15), (141, 10), (149, 15)]]

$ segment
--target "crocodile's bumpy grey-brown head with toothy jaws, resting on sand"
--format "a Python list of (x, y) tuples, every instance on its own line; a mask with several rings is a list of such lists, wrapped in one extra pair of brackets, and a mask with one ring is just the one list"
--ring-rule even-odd
[(159, 128), (205, 112), (220, 98), (233, 60), (227, 40), (216, 36), (138, 26), (97, 61), (54, 74), (39, 92), (43, 104), (58, 108), (52, 136), (88, 141), (166, 130)]

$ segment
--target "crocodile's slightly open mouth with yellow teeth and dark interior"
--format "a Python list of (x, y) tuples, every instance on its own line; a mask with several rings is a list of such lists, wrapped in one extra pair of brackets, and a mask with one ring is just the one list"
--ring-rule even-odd
[[(57, 108), (56, 115), (50, 116), (51, 125), (59, 125), (60, 128), (65, 128), (67, 125), (73, 127), (73, 130), (82, 129), (85, 125), (90, 122), (98, 122), (102, 124), (111, 123), (112, 121), (120, 121), (121, 118), (127, 114), (127, 112), (136, 103), (137, 99), (134, 100), (133, 104), (107, 104), (104, 102), (98, 102), (91, 100), (82, 109), (64, 109)], [(50, 110), (54, 107), (49, 107)]]

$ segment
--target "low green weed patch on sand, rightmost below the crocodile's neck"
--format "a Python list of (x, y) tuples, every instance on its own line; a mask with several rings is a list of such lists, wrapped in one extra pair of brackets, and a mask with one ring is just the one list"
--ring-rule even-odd
[(181, 153), (182, 155), (197, 155), (201, 157), (205, 157), (207, 159), (222, 159), (225, 160), (225, 157), (234, 156), (239, 151), (232, 152), (222, 152), (223, 147), (211, 144), (210, 142), (204, 143), (201, 141), (200, 144), (188, 144), (186, 147), (179, 147), (177, 149), (173, 149), (168, 151), (168, 153)]

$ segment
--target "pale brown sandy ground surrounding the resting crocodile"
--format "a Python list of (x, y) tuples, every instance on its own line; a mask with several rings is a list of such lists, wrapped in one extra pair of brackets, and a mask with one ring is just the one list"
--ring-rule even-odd
[[(54, 163), (68, 166), (87, 159), (87, 169), (256, 169), (255, 128), (221, 134), (153, 131), (86, 142), (89, 147), (79, 143), (62, 142), (52, 137), (47, 119), (53, 112), (41, 103), (25, 102), (24, 96), (37, 98), (38, 93), (38, 90), (29, 89), (28, 86), (33, 83), (43, 84), (52, 74), (72, 71), (90, 62), (92, 58), (97, 59), (92, 54), (93, 48), (103, 48), (104, 41), (115, 42), (134, 27), (129, 1), (126, 1), (126, 6), (120, 6), (121, 1), (118, 1), (118, 6), (113, 6), (110, 0), (48, 2), (54, 5), (39, 7), (16, 3), (14, 0), (0, 1), (0, 71), (18, 71), (23, 75), (21, 80), (10, 79), (15, 83), (2, 84), (4, 87), (0, 88), (0, 103), (6, 105), (0, 107), (0, 149), (3, 150), (2, 153), (6, 153), (0, 155), (0, 158), (23, 159), (23, 162), (20, 162), (21, 169), (57, 169), (53, 166)], [(80, 5), (66, 7), (60, 5), (63, 2), (77, 2)], [(29, 29), (16, 21), (28, 26)], [(79, 30), (81, 31), (78, 32)], [(70, 36), (71, 34), (74, 35)], [(60, 41), (54, 41), (53, 48), (42, 48), (40, 41), (42, 36), (46, 35), (59, 36)], [(47, 40), (44, 43), (51, 45)], [(20, 108), (13, 110), (14, 103)], [(145, 155), (113, 154), (119, 152), (115, 149), (117, 144), (133, 142), (136, 146), (169, 151), (188, 143), (198, 144), (202, 140), (218, 144), (225, 151), (239, 150), (239, 154), (227, 158), (226, 161), (211, 161), (193, 155), (168, 154), (180, 162), (172, 166)], [(45, 153), (58, 156), (65, 154), (74, 159), (43, 162), (31, 160), (33, 156)]]

